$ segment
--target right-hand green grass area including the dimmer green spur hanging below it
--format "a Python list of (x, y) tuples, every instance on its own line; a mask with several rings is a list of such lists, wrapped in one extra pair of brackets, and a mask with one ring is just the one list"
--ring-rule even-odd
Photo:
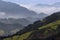
[(45, 32), (44, 32), (44, 35), (47, 35), (48, 32), (49, 32), (48, 30), (54, 31), (54, 30), (57, 29), (58, 25), (60, 25), (60, 20), (58, 20), (56, 22), (49, 23), (49, 24), (47, 24), (45, 26), (42, 26), (42, 27), (40, 27), (38, 29), (41, 30), (41, 29), (47, 28), (47, 30), (45, 30)]

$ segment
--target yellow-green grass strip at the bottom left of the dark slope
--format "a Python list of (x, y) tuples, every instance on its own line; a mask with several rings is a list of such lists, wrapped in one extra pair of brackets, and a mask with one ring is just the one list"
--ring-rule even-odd
[(31, 32), (24, 33), (24, 34), (22, 34), (22, 35), (13, 36), (13, 37), (11, 37), (11, 38), (5, 38), (4, 40), (24, 40), (24, 39), (26, 39), (31, 33), (32, 33), (32, 31), (31, 31)]

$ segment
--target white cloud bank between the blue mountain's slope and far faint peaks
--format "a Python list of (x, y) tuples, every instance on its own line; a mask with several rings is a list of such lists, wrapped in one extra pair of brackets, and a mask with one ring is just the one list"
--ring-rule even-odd
[(60, 7), (55, 7), (55, 6), (33, 6), (33, 5), (29, 5), (29, 4), (20, 4), (21, 6), (35, 11), (36, 13), (46, 13), (46, 14), (52, 14), (54, 12), (58, 12), (60, 11)]

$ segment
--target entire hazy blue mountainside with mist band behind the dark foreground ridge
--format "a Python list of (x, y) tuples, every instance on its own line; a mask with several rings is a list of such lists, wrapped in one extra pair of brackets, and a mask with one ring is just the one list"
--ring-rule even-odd
[(18, 4), (0, 0), (0, 29), (4, 35), (14, 34), (34, 21), (42, 20), (47, 14), (37, 14)]

